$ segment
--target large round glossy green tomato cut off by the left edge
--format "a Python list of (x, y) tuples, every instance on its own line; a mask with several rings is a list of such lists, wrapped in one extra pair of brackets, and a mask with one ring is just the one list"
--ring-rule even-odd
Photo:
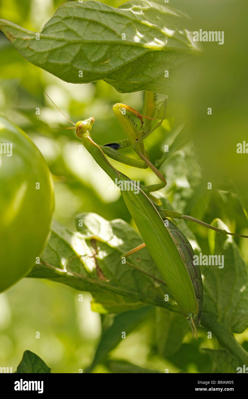
[(0, 116), (0, 292), (38, 262), (53, 209), (45, 159), (23, 130)]

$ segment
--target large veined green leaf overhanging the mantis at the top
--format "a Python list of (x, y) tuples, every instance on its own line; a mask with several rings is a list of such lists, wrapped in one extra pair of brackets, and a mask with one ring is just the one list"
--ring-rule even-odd
[(199, 53), (184, 18), (178, 10), (148, 1), (119, 8), (68, 2), (45, 24), (39, 40), (35, 32), (7, 20), (0, 20), (0, 29), (23, 57), (66, 82), (103, 79), (120, 92), (168, 94), (178, 67)]

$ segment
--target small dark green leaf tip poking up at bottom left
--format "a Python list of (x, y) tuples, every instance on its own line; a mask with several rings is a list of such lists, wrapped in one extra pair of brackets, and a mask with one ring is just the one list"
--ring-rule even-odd
[(50, 367), (30, 350), (25, 350), (17, 366), (16, 373), (51, 373)]

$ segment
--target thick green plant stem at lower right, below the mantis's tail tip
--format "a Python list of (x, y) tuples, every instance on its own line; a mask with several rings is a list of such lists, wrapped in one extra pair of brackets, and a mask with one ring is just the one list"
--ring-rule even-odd
[(221, 346), (228, 350), (240, 362), (240, 365), (248, 365), (248, 352), (235, 340), (233, 334), (227, 328), (221, 326), (206, 313), (201, 315), (201, 325), (213, 332)]

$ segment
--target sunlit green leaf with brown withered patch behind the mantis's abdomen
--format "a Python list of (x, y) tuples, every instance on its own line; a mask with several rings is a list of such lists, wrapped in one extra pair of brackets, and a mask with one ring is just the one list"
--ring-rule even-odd
[[(83, 213), (81, 233), (54, 222), (53, 230), (39, 265), (28, 277), (45, 278), (89, 291), (92, 309), (119, 313), (152, 304), (179, 311), (165, 302), (166, 286), (121, 263), (121, 254), (142, 243), (139, 234), (123, 220), (106, 221), (95, 213)], [(163, 280), (150, 254), (144, 248), (129, 261), (139, 269)], [(171, 297), (171, 295), (170, 295)]]

